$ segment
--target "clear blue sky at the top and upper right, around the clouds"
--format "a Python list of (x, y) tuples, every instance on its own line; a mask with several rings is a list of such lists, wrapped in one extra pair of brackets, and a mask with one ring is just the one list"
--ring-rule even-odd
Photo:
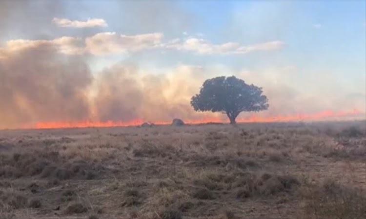
[[(174, 16), (167, 13), (167, 20), (164, 20), (164, 15), (160, 14), (156, 17), (161, 18), (155, 18), (151, 24), (145, 24), (142, 19), (136, 20), (136, 14), (123, 15), (123, 4), (115, 1), (91, 1), (87, 7), (88, 10), (84, 13), (71, 11), (69, 18), (104, 18), (108, 22), (105, 31), (124, 34), (162, 32), (165, 37), (183, 37), (183, 32), (186, 32), (189, 35), (202, 33), (212, 43), (234, 41), (246, 45), (271, 40), (286, 43), (284, 50), (269, 54), (230, 57), (175, 55), (187, 63), (218, 62), (236, 68), (284, 63), (310, 69), (330, 68), (337, 63), (338, 67), (334, 70), (342, 69), (345, 76), (349, 76), (350, 68), (353, 72), (351, 74), (355, 76), (365, 73), (366, 3), (362, 0), (182, 0), (174, 4), (173, 11), (178, 11), (176, 18), (171, 18)], [(314, 25), (317, 24), (321, 26), (315, 28)], [(157, 65), (162, 62), (175, 65), (177, 62), (171, 53), (147, 54), (138, 57)]]

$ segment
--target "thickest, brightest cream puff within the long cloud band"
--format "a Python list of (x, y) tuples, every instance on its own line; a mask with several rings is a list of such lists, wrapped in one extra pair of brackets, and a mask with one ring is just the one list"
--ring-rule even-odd
[(161, 45), (163, 34), (119, 35), (98, 33), (85, 39), (85, 49), (93, 55), (111, 55), (152, 49)]

